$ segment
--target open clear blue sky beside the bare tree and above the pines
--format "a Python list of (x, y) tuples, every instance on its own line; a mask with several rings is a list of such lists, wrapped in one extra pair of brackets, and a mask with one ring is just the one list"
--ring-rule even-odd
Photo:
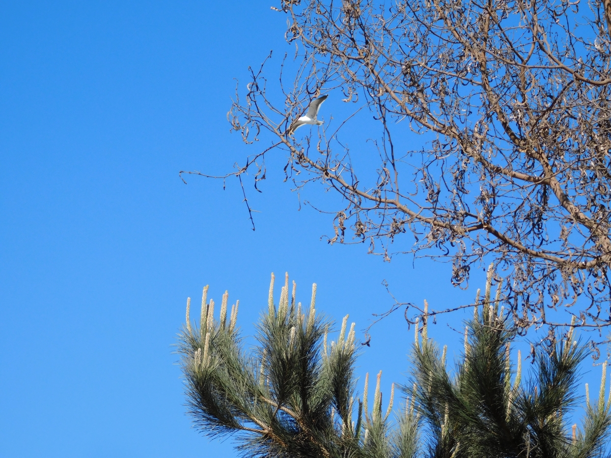
[[(270, 272), (288, 271), (300, 300), (317, 282), (319, 310), (357, 329), (390, 306), (384, 279), (436, 308), (473, 299), (445, 264), (321, 241), (329, 219), (298, 211), (281, 169), (251, 192), (255, 232), (235, 181), (181, 183), (178, 170), (221, 173), (253, 152), (225, 115), (234, 78), (288, 49), (270, 4), (2, 2), (0, 456), (237, 456), (192, 429), (172, 354), (206, 284), (240, 299), (246, 335)], [(444, 323), (431, 333), (460, 351)], [(398, 313), (372, 334), (359, 370), (383, 369), (388, 390), (412, 332)]]

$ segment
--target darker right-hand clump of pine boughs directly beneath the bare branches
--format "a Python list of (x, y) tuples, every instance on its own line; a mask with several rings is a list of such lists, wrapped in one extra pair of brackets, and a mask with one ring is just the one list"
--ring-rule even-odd
[[(428, 434), (431, 457), (604, 457), (611, 432), (611, 399), (605, 402), (606, 363), (602, 365), (598, 402), (587, 399), (582, 427), (568, 427), (579, 404), (577, 369), (587, 347), (552, 335), (533, 357), (533, 373), (521, 383), (521, 355), (515, 371), (510, 362), (514, 335), (500, 310), (499, 294), (491, 300), (489, 271), (482, 304), (467, 324), (463, 357), (450, 374), (447, 347), (440, 352), (426, 338), (412, 352), (414, 397)], [(500, 288), (499, 288), (500, 291)], [(479, 291), (478, 291), (479, 296)], [(511, 378), (513, 377), (513, 383)], [(406, 390), (406, 388), (403, 388)], [(586, 390), (588, 387), (586, 385)]]

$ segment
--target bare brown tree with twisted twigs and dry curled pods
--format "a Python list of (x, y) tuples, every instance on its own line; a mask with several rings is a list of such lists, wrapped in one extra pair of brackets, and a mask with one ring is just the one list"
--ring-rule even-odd
[[(256, 187), (266, 156), (284, 150), (297, 189), (318, 182), (343, 198), (329, 242), (449, 260), (460, 286), (491, 260), (523, 330), (569, 325), (546, 307), (585, 328), (611, 324), (611, 0), (293, 0), (276, 10), (295, 59), (279, 84), (264, 62), (236, 98), (233, 129), (266, 147), (229, 175), (251, 172)], [(320, 93), (373, 112), (375, 170), (351, 160), (346, 119), (288, 132)], [(428, 134), (426, 148), (395, 146), (414, 133)], [(393, 244), (404, 233), (407, 249)]]

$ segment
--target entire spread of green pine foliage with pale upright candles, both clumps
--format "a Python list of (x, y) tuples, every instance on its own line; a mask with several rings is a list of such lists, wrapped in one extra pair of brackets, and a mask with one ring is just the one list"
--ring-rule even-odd
[(491, 283), (489, 275), (453, 371), (446, 368), (447, 347), (439, 351), (428, 338), (426, 314), (422, 327), (416, 326), (412, 383), (401, 387), (406, 402), (395, 416), (394, 384), (382, 408), (381, 372), (371, 409), (368, 374), (357, 396), (355, 325), (348, 329), (345, 316), (337, 340), (327, 343), (332, 322), (315, 310), (316, 285), (306, 311), (296, 304), (295, 282), (289, 294), (287, 275), (276, 306), (272, 275), (268, 311), (258, 324), (257, 345), (248, 350), (236, 327), (239, 302), (227, 323), (225, 292), (216, 321), (206, 287), (199, 325), (191, 321), (187, 301), (178, 344), (189, 413), (204, 434), (233, 435), (247, 457), (607, 456), (606, 364), (598, 402), (587, 399), (582, 426), (569, 427), (585, 347), (573, 340), (572, 330), (557, 336), (546, 351), (536, 352), (533, 374), (522, 383), (521, 357), (514, 370), (514, 335), (499, 297), (491, 300)]

